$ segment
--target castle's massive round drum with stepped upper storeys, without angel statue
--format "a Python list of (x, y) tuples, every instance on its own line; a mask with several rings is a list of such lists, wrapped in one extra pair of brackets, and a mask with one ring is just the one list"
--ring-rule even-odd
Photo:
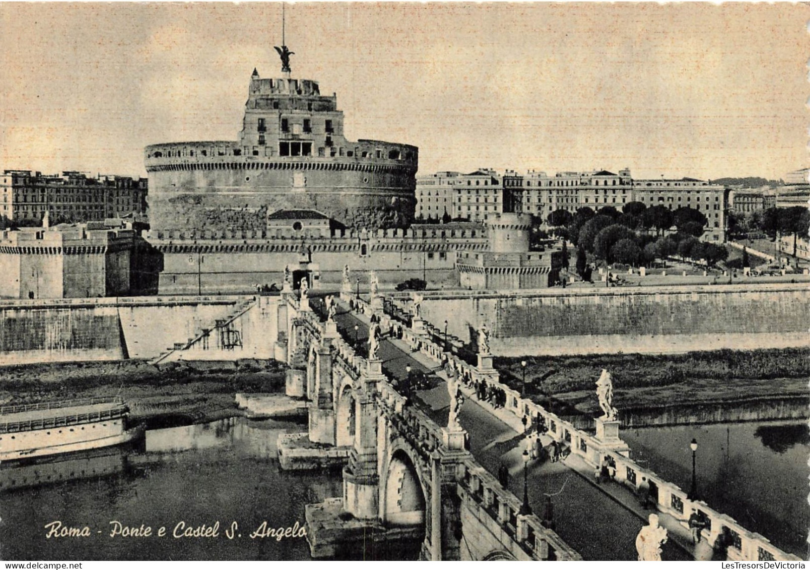
[(262, 238), (279, 210), (315, 210), (357, 229), (413, 219), (418, 149), (345, 139), (337, 96), (309, 79), (254, 70), (238, 140), (152, 144), (144, 154), (156, 238)]

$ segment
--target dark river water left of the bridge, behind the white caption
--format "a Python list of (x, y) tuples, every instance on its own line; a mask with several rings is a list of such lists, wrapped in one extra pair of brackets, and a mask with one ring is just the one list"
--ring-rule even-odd
[[(305, 429), (229, 418), (147, 431), (139, 449), (4, 464), (0, 559), (309, 559), (306, 538), (249, 538), (263, 521), (268, 529), (302, 526), (305, 504), (342, 495), (339, 473), (279, 469), (279, 433)], [(53, 521), (87, 527), (89, 536), (46, 538), (53, 525), (45, 525)], [(111, 521), (151, 527), (152, 535), (111, 537)], [(226, 530), (234, 521), (230, 539)], [(181, 522), (180, 534), (219, 522), (218, 536), (174, 538)], [(160, 527), (163, 537), (156, 536)]]

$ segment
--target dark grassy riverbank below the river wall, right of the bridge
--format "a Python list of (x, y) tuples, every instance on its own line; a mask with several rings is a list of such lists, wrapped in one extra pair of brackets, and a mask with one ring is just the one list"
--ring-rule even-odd
[[(808, 396), (810, 349), (714, 350), (681, 355), (612, 354), (527, 360), (527, 395), (552, 397), (566, 414), (595, 414), (595, 382), (613, 377), (618, 409)], [(521, 389), (522, 358), (496, 358), (511, 388)]]

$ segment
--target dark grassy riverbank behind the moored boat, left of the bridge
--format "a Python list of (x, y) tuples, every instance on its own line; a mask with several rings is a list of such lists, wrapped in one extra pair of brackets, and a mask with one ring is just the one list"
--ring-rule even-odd
[(75, 362), (0, 368), (0, 403), (27, 404), (122, 396), (130, 418), (151, 425), (205, 422), (239, 415), (237, 392), (279, 392), (281, 362)]

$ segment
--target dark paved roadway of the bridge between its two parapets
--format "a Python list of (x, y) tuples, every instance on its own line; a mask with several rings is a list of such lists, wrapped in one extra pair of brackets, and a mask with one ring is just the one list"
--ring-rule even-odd
[[(369, 319), (347, 311), (335, 316), (338, 328), (343, 331), (347, 341), (354, 342), (354, 325), (359, 325), (357, 339), (360, 345), (368, 341)], [(364, 354), (364, 350), (361, 354)], [(435, 373), (439, 377), (444, 373), (441, 366), (432, 358), (411, 353), (403, 341), (384, 337), (380, 343), (380, 358), (383, 368), (390, 375), (399, 379), (405, 378), (405, 366), (412, 371)], [(429, 390), (416, 392), (416, 397), (424, 405), (425, 411), (440, 425), (447, 422), (450, 395), (444, 383)], [(498, 414), (498, 412), (503, 412)], [(503, 416), (504, 422), (498, 416)], [(475, 459), (491, 474), (497, 475), (501, 461), (509, 467), (509, 489), (518, 498), (523, 495), (522, 480), (522, 425), (514, 414), (503, 410), (493, 410), (490, 406), (481, 405), (473, 398), (467, 398), (459, 416), (464, 429), (470, 434), (470, 451)], [(517, 425), (516, 425), (517, 422)], [(528, 469), (529, 502), (534, 512), (542, 516), (545, 495), (552, 496), (554, 504), (554, 521), (556, 532), (561, 538), (577, 550), (584, 559), (592, 560), (634, 560), (637, 557), (635, 539), (638, 531), (646, 524), (649, 512), (643, 511), (629, 490), (618, 488), (613, 492), (595, 485), (588, 478), (581, 476), (582, 465), (578, 465), (570, 456), (565, 462), (530, 461)], [(584, 464), (583, 464), (584, 465)], [(593, 478), (592, 469), (588, 469)], [(684, 542), (684, 532), (680, 524), (677, 527), (661, 516), (662, 524), (672, 526), (671, 538), (663, 545), (663, 559), (694, 559), (691, 545)], [(671, 517), (670, 517), (671, 518)], [(680, 529), (680, 530), (679, 530)], [(683, 545), (683, 546), (682, 546)]]

